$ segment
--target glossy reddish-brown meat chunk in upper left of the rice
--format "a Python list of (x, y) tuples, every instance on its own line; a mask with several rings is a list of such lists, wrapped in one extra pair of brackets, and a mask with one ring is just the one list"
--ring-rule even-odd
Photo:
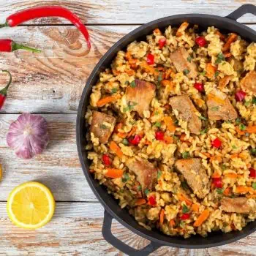
[(143, 80), (135, 79), (135, 87), (128, 86), (126, 91), (127, 102), (134, 105), (132, 110), (144, 117), (143, 111), (149, 110), (149, 105), (155, 96), (156, 86)]

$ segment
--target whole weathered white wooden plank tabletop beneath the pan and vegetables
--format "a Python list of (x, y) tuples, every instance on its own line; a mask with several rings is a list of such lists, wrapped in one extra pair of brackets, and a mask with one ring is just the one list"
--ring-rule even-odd
[[(141, 3), (140, 3), (141, 2)], [(43, 52), (0, 53), (0, 69), (12, 72), (13, 83), (0, 113), (0, 255), (123, 255), (102, 238), (103, 208), (86, 183), (75, 144), (78, 102), (91, 70), (102, 55), (129, 31), (142, 23), (167, 15), (208, 13), (225, 16), (241, 4), (255, 0), (69, 0), (0, 1), (0, 23), (18, 10), (58, 4), (75, 12), (89, 27), (92, 49), (85, 56), (83, 37), (67, 20), (44, 18), (13, 29), (0, 29), (0, 38), (12, 38)], [(238, 21), (256, 29), (256, 17)], [(0, 85), (7, 82), (0, 72)], [(0, 86), (0, 87), (1, 87)], [(41, 113), (48, 120), (50, 144), (44, 154), (30, 161), (18, 159), (7, 147), (7, 129), (19, 113)], [(7, 218), (10, 191), (25, 181), (41, 181), (53, 191), (56, 214), (35, 231), (22, 230)], [(118, 222), (113, 233), (127, 244), (147, 244)], [(176, 249), (164, 246), (154, 255), (256, 255), (256, 234), (212, 249)]]

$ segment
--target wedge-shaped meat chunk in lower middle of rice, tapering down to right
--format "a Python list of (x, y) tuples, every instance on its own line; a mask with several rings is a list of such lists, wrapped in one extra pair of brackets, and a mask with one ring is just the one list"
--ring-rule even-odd
[(203, 198), (207, 195), (209, 179), (200, 159), (180, 159), (176, 161), (175, 167), (184, 176), (197, 197)]

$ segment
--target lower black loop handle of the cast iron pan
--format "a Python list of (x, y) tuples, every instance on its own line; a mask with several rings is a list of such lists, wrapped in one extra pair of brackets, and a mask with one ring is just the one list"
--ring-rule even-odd
[(120, 250), (121, 252), (124, 252), (125, 254), (132, 256), (147, 256), (151, 252), (154, 252), (156, 249), (162, 246), (161, 244), (157, 244), (151, 241), (150, 244), (148, 244), (143, 249), (134, 249), (131, 246), (124, 244), (115, 236), (113, 236), (113, 233), (111, 232), (112, 221), (113, 217), (110, 214), (108, 214), (107, 211), (105, 211), (102, 225), (102, 236), (105, 238), (106, 241), (108, 241), (108, 243), (115, 246), (116, 249)]

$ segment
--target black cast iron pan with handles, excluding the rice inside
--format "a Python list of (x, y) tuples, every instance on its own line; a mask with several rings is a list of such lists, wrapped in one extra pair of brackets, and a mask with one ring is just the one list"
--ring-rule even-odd
[[(130, 42), (134, 40), (140, 41), (145, 39), (147, 34), (151, 34), (154, 29), (163, 29), (168, 25), (179, 26), (182, 22), (187, 20), (189, 24), (198, 24), (202, 29), (206, 29), (208, 26), (215, 26), (223, 32), (235, 32), (241, 37), (244, 37), (249, 42), (256, 41), (256, 32), (241, 23), (236, 22), (238, 18), (246, 13), (252, 13), (256, 15), (256, 7), (252, 4), (245, 4), (238, 8), (238, 10), (232, 12), (227, 17), (219, 17), (215, 15), (203, 15), (203, 14), (187, 14), (187, 15), (173, 15), (166, 18), (161, 18), (159, 20), (151, 21), (138, 29), (127, 34), (125, 37), (120, 39), (113, 45), (110, 50), (100, 59), (97, 66), (94, 68), (89, 79), (87, 80), (86, 87), (83, 89), (83, 94), (80, 99), (80, 105), (78, 108), (78, 118), (77, 118), (77, 146), (78, 154), (80, 158), (81, 165), (83, 167), (83, 173), (86, 179), (98, 198), (99, 202), (105, 208), (104, 222), (102, 227), (102, 235), (106, 241), (115, 246), (117, 249), (126, 253), (127, 255), (148, 255), (154, 252), (160, 246), (173, 246), (179, 248), (208, 248), (213, 246), (221, 246), (228, 244), (230, 242), (236, 241), (238, 239), (244, 238), (249, 234), (255, 232), (256, 222), (250, 222), (241, 231), (233, 231), (230, 233), (222, 232), (212, 232), (209, 233), (206, 238), (201, 236), (192, 236), (190, 238), (184, 239), (181, 237), (170, 237), (165, 236), (160, 233), (159, 230), (146, 230), (144, 227), (138, 225), (134, 217), (129, 215), (126, 209), (121, 209), (118, 203), (113, 198), (113, 196), (108, 195), (107, 190), (103, 186), (99, 186), (98, 181), (89, 173), (89, 160), (87, 159), (87, 153), (85, 150), (86, 138), (85, 138), (85, 113), (86, 107), (89, 105), (89, 95), (91, 94), (91, 87), (97, 83), (99, 79), (99, 72), (102, 72), (106, 67), (110, 67), (111, 61), (116, 56), (118, 50), (124, 49)], [(143, 249), (137, 250), (124, 244), (122, 241), (118, 240), (111, 233), (112, 220), (116, 219), (125, 227), (132, 230), (134, 233), (142, 236), (143, 238), (151, 241), (148, 246)]]

